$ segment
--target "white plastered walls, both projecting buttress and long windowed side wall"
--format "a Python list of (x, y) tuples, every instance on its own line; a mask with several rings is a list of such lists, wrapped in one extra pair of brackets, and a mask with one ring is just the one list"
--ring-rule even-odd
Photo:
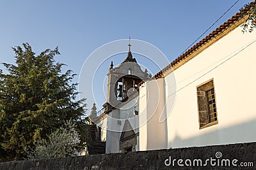
[[(164, 83), (164, 99), (160, 100), (166, 106), (159, 104), (157, 107), (162, 107), (169, 116), (165, 125), (159, 120), (157, 122), (157, 118), (154, 125), (150, 120), (140, 125), (140, 150), (256, 141), (253, 132), (256, 129), (256, 31), (243, 34), (241, 29), (240, 26), (235, 27), (228, 34), (223, 33), (226, 35), (218, 41), (212, 39), (214, 43), (191, 60), (164, 78), (154, 80), (159, 81), (160, 88)], [(211, 79), (214, 81), (218, 124), (200, 129), (196, 87)], [(152, 101), (150, 96), (158, 94), (150, 88), (150, 82), (140, 87), (140, 121), (152, 114), (148, 113), (155, 107), (152, 103), (158, 103)], [(149, 109), (150, 106), (153, 108)], [(159, 115), (159, 111), (154, 114)], [(158, 138), (160, 134), (161, 138)], [(165, 146), (159, 139), (166, 139), (168, 144)], [(154, 147), (148, 143), (153, 143), (150, 145)]]

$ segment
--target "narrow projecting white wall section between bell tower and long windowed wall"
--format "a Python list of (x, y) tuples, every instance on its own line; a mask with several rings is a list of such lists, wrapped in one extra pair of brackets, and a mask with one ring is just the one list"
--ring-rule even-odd
[(168, 148), (164, 94), (164, 78), (147, 81), (140, 88), (140, 150)]

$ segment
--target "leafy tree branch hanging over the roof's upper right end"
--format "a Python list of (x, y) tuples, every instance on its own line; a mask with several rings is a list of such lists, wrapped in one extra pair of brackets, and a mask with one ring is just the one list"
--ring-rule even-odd
[(245, 19), (243, 27), (243, 32), (252, 32), (256, 26), (256, 3), (252, 2), (249, 4), (244, 4), (244, 7), (240, 10), (240, 17)]

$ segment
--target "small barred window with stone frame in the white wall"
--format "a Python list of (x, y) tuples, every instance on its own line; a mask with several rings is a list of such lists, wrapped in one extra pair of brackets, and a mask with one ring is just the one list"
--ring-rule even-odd
[(199, 129), (218, 124), (213, 79), (197, 87)]

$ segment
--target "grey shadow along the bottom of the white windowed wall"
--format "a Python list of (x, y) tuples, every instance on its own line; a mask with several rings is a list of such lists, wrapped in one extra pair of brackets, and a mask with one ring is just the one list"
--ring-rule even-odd
[[(219, 122), (220, 124), (220, 122)], [(219, 125), (217, 124), (217, 125)], [(216, 125), (213, 125), (216, 126)], [(212, 127), (213, 127), (212, 126)], [(206, 127), (211, 128), (211, 127)], [(207, 145), (225, 145), (232, 143), (248, 143), (256, 141), (256, 119), (243, 124), (237, 124), (223, 129), (216, 129), (204, 133), (204, 129), (199, 130), (200, 135), (193, 138), (181, 139), (177, 134), (169, 143), (171, 148), (183, 148), (191, 146), (207, 146)]]

